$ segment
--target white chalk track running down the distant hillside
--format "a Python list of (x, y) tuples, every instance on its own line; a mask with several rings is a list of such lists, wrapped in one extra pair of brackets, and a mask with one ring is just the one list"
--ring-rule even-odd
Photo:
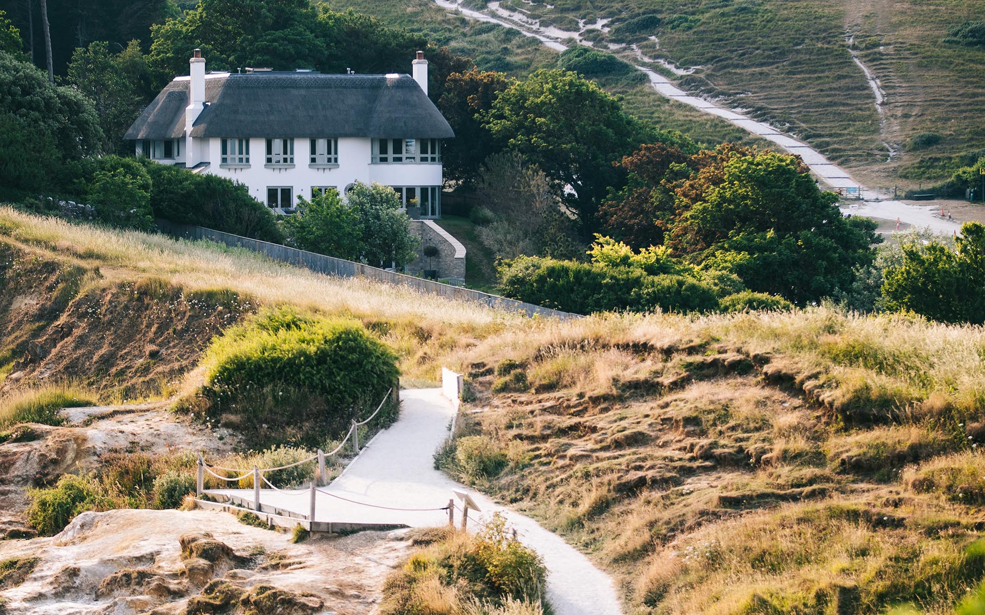
[[(558, 51), (564, 51), (567, 49), (567, 45), (560, 42), (556, 36), (547, 35), (537, 31), (530, 31), (520, 24), (512, 22), (511, 20), (497, 19), (485, 13), (468, 9), (463, 7), (461, 2), (462, 0), (434, 0), (434, 3), (439, 7), (449, 11), (458, 12), (469, 19), (497, 24), (504, 28), (520, 31), (527, 36), (540, 40), (548, 47)], [(571, 35), (574, 36), (575, 33), (576, 32), (571, 32)], [(942, 219), (940, 217), (934, 217), (934, 206), (922, 207), (907, 205), (901, 201), (880, 200), (881, 195), (879, 195), (877, 191), (863, 186), (852, 177), (851, 173), (831, 162), (827, 159), (827, 157), (806, 143), (798, 141), (790, 135), (786, 135), (778, 131), (765, 122), (758, 122), (743, 113), (733, 109), (727, 109), (698, 95), (685, 92), (656, 71), (648, 69), (644, 66), (634, 66), (647, 76), (650, 80), (650, 86), (655, 92), (673, 100), (677, 100), (678, 102), (683, 102), (684, 104), (694, 107), (703, 113), (720, 117), (747, 132), (750, 132), (779, 146), (790, 154), (799, 154), (804, 159), (804, 163), (811, 167), (814, 174), (821, 180), (821, 183), (832, 190), (842, 190), (846, 192), (848, 190), (859, 191), (859, 194), (862, 197), (860, 207), (857, 209), (842, 207), (841, 210), (843, 213), (865, 215), (867, 217), (879, 217), (889, 220), (899, 218), (899, 221), (906, 224), (921, 227), (929, 226), (935, 232), (947, 233), (949, 235), (960, 230), (960, 224), (958, 222)]]

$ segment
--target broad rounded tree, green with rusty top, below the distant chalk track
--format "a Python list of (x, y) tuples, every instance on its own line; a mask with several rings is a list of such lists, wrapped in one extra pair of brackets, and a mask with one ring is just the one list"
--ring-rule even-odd
[(756, 291), (805, 302), (847, 287), (878, 241), (876, 223), (844, 218), (792, 155), (743, 150), (694, 156), (703, 164), (677, 189), (683, 212), (669, 245), (703, 269)]

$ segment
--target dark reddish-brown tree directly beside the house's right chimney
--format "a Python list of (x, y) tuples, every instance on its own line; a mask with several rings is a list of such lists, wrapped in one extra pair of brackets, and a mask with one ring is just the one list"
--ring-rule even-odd
[(511, 81), (502, 73), (471, 70), (452, 73), (445, 80), (444, 92), (437, 98), (437, 108), (455, 131), (455, 138), (442, 145), (444, 179), (471, 186), (479, 169), (490, 155), (499, 151), (482, 117), (493, 107), (500, 92)]

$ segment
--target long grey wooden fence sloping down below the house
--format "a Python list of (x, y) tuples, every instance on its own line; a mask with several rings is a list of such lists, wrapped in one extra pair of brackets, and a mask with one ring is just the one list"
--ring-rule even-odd
[(516, 299), (507, 299), (506, 297), (500, 297), (488, 292), (472, 290), (471, 288), (462, 288), (460, 286), (452, 286), (451, 284), (443, 284), (441, 282), (424, 279), (422, 277), (406, 276), (396, 272), (388, 272), (376, 267), (363, 265), (362, 263), (354, 263), (353, 261), (336, 259), (323, 254), (315, 254), (314, 252), (298, 250), (296, 248), (290, 248), (288, 246), (282, 246), (276, 243), (260, 241), (259, 239), (240, 237), (239, 235), (233, 235), (221, 230), (213, 230), (211, 228), (193, 226), (191, 224), (179, 224), (177, 222), (164, 219), (157, 220), (157, 223), (158, 228), (160, 228), (162, 232), (171, 235), (172, 237), (181, 239), (206, 239), (225, 244), (230, 248), (245, 248), (246, 250), (250, 250), (252, 252), (264, 254), (275, 261), (289, 263), (296, 267), (303, 267), (319, 274), (340, 277), (370, 277), (372, 279), (377, 279), (390, 284), (411, 286), (424, 292), (438, 294), (458, 301), (471, 301), (475, 303), (482, 303), (499, 310), (523, 312), (527, 316), (531, 317), (542, 316), (561, 319), (580, 318), (580, 316), (576, 314), (552, 310), (551, 308), (541, 307), (539, 305), (525, 303), (523, 301), (517, 301)]

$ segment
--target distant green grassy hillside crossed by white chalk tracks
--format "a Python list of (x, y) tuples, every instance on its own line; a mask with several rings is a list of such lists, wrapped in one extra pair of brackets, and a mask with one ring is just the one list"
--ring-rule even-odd
[[(549, 55), (534, 54), (533, 39), (489, 25), (462, 26), (427, 0), (330, 4), (426, 31), (482, 68), (519, 75), (550, 64)], [(872, 185), (915, 187), (947, 177), (982, 148), (985, 46), (954, 42), (950, 33), (981, 19), (973, 0), (508, 0), (501, 6), (566, 31), (608, 20), (607, 31), (588, 31), (596, 47), (616, 46), (613, 52), (638, 62), (621, 47), (635, 44), (649, 57), (693, 68), (679, 78), (686, 89), (790, 131)], [(880, 80), (882, 111), (851, 51)], [(749, 139), (645, 85), (610, 89), (624, 94), (637, 115), (695, 139)]]

